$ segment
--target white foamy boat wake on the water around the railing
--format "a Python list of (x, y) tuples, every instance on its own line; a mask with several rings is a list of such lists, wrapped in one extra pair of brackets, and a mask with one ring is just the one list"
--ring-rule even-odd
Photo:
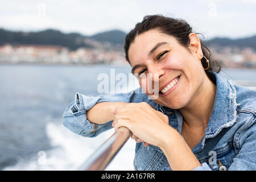
[[(63, 125), (49, 122), (46, 133), (51, 141), (51, 150), (39, 151), (30, 160), (21, 158), (14, 166), (5, 167), (3, 170), (77, 170), (114, 133), (114, 129), (105, 131), (94, 138), (85, 138), (72, 133)], [(133, 139), (129, 139), (106, 168), (106, 171), (134, 170), (134, 153), (135, 142)]]

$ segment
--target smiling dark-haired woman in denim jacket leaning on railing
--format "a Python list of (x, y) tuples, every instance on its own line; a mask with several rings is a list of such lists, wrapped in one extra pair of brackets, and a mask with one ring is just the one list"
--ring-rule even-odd
[(220, 67), (187, 22), (145, 16), (127, 34), (125, 53), (142, 89), (149, 74), (157, 76), (158, 97), (150, 100), (148, 89), (77, 93), (64, 126), (85, 137), (127, 127), (138, 170), (256, 169), (256, 93), (217, 75)]

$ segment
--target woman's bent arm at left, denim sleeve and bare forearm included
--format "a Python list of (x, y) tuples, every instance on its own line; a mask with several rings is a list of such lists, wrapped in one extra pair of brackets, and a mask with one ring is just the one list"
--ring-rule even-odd
[[(63, 113), (63, 125), (84, 137), (96, 137), (113, 128), (112, 122), (110, 122), (113, 120), (111, 109), (113, 106), (117, 106), (118, 102), (130, 103), (148, 100), (148, 96), (142, 93), (141, 88), (139, 92), (136, 91), (99, 96), (85, 96), (76, 93), (75, 100), (68, 105)], [(104, 104), (104, 102), (112, 103)]]

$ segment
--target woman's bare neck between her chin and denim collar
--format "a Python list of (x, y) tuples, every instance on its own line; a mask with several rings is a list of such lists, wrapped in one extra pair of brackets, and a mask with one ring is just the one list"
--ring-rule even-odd
[(193, 129), (205, 130), (212, 114), (216, 85), (207, 77), (193, 96), (191, 102), (179, 109), (184, 122)]

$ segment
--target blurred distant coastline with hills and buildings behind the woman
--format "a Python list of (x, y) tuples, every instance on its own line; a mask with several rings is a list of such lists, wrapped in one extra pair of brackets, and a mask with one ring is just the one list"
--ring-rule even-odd
[[(126, 65), (125, 36), (119, 30), (85, 36), (52, 29), (14, 32), (0, 28), (0, 64)], [(256, 35), (201, 41), (222, 67), (256, 69)]]

